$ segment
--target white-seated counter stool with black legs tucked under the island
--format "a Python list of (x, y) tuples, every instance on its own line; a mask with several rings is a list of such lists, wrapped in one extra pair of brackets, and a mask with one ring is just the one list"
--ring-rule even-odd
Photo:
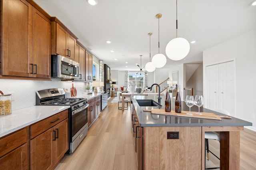
[[(225, 111), (222, 109), (211, 109), (211, 110), (230, 116), (230, 113), (228, 111)], [(205, 139), (205, 150), (207, 152), (207, 160), (209, 160), (209, 152), (212, 153), (212, 151), (209, 150), (209, 139), (218, 140), (220, 142), (220, 132), (205, 132), (204, 139)], [(218, 158), (218, 160), (220, 160), (220, 158), (216, 154), (214, 153), (212, 154), (216, 158)], [(204, 162), (206, 162), (206, 156), (204, 156)], [(205, 168), (205, 169), (206, 170), (220, 169), (220, 167), (212, 167), (212, 168)]]

